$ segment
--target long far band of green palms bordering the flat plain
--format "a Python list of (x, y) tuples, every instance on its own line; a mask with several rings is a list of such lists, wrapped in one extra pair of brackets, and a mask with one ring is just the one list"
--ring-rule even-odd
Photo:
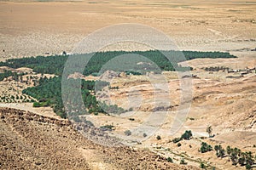
[[(183, 61), (182, 55), (178, 51), (165, 51), (164, 54), (170, 56), (173, 60), (173, 64), (166, 59), (166, 56), (160, 51), (157, 50), (149, 50), (149, 51), (134, 51), (134, 52), (125, 52), (125, 51), (112, 51), (112, 52), (98, 52), (93, 54), (92, 58), (86, 65), (84, 69), (84, 75), (93, 74), (95, 76), (99, 76), (97, 73), (101, 71), (102, 65), (108, 63), (110, 59), (113, 59), (116, 56), (124, 55), (124, 54), (138, 54), (142, 55), (145, 58), (149, 59), (158, 67), (161, 71), (174, 71), (174, 67), (177, 67), (177, 62)], [(90, 54), (84, 54), (81, 56), (89, 56)], [(235, 58), (236, 56), (231, 55), (229, 53), (221, 53), (221, 52), (196, 52), (196, 51), (183, 51), (183, 55), (185, 59), (197, 59), (197, 58)], [(64, 65), (67, 61), (67, 55), (53, 55), (53, 56), (38, 56), (38, 57), (30, 57), (30, 58), (22, 58), (22, 59), (7, 59), (6, 62), (0, 62), (0, 66), (9, 66), (11, 68), (20, 68), (20, 67), (28, 67), (32, 68), (33, 71), (38, 73), (49, 73), (55, 74), (57, 76), (61, 76)], [(139, 61), (138, 61), (139, 62)], [(130, 63), (131, 64), (131, 63)], [(127, 66), (128, 65), (128, 66)], [(129, 63), (119, 63), (119, 68), (128, 68)], [(131, 67), (133, 68), (134, 65)], [(142, 74), (145, 65), (137, 65), (136, 71), (127, 70), (126, 74)], [(154, 71), (155, 66), (147, 65), (149, 71)]]

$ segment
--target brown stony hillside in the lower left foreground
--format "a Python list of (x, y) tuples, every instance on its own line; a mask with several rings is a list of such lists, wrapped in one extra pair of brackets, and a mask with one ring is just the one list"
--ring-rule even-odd
[(29, 111), (0, 108), (2, 169), (197, 169), (148, 150), (94, 144), (72, 123)]

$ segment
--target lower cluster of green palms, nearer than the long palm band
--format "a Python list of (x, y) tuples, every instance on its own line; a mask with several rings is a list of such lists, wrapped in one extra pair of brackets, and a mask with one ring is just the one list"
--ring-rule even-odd
[[(68, 81), (79, 81), (74, 79), (68, 79)], [(84, 101), (84, 106), (89, 113), (98, 112), (102, 113), (121, 113), (125, 110), (119, 108), (117, 105), (106, 105), (105, 103), (100, 103), (96, 100), (96, 97), (93, 95), (95, 88), (102, 89), (104, 86), (107, 86), (108, 82), (93, 82), (93, 81), (84, 81), (82, 80), (80, 87), (70, 87), (67, 89), (68, 94), (76, 88), (81, 88), (82, 99)], [(42, 106), (51, 106), (53, 107), (55, 113), (63, 118), (67, 117), (66, 112), (64, 111), (64, 105), (61, 98), (61, 77), (44, 77), (38, 80), (38, 86), (32, 88), (26, 88), (22, 91), (23, 94), (32, 96), (34, 99), (38, 99), (38, 102), (33, 104), (34, 107)], [(75, 103), (73, 101), (72, 103)]]

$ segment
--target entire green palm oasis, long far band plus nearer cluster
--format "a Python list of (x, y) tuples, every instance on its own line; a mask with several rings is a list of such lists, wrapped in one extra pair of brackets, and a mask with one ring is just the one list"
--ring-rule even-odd
[[(125, 51), (112, 51), (112, 52), (98, 52), (93, 54), (92, 58), (85, 66), (85, 68), (79, 68), (79, 65), (72, 65), (72, 69), (79, 71), (80, 69), (84, 70), (83, 74), (87, 75), (94, 75), (100, 76), (100, 71), (102, 66), (107, 64), (109, 60), (114, 59), (116, 56), (121, 55), (125, 56), (125, 62), (117, 61), (116, 68), (117, 71), (125, 71), (126, 74), (133, 74), (133, 75), (140, 75), (145, 74), (148, 71), (175, 71), (174, 68), (179, 68), (179, 71), (188, 71), (190, 68), (183, 68), (177, 65), (178, 62), (183, 61), (182, 57), (185, 56), (185, 59), (196, 59), (196, 58), (234, 58), (234, 55), (229, 53), (221, 53), (221, 52), (193, 52), (193, 51), (183, 51), (183, 55), (178, 51), (164, 51), (163, 54), (157, 50), (149, 50), (149, 51), (134, 51), (134, 52), (125, 52)], [(140, 59), (137, 58), (128, 58), (130, 55), (141, 55), (144, 56), (145, 62), (141, 62)], [(170, 59), (172, 59), (173, 63), (166, 59), (166, 54)], [(80, 57), (81, 62), (86, 57), (90, 56), (90, 54), (80, 54), (74, 55), (71, 57)], [(43, 74), (55, 74), (59, 77), (53, 78), (40, 78), (40, 80), (34, 80), (33, 83), (35, 87), (33, 88), (26, 88), (23, 90), (23, 94), (27, 94), (32, 96), (32, 98), (37, 99), (38, 101), (35, 102), (33, 99), (23, 99), (20, 96), (20, 100), (25, 102), (34, 102), (35, 107), (42, 107), (42, 106), (51, 106), (53, 107), (55, 113), (61, 117), (67, 117), (68, 114), (74, 114), (72, 108), (65, 108), (62, 98), (61, 98), (61, 76), (64, 70), (64, 66), (66, 64), (68, 56), (67, 55), (54, 55), (54, 56), (38, 56), (38, 57), (30, 57), (30, 58), (22, 58), (22, 59), (7, 59), (6, 62), (0, 62), (0, 66), (9, 66), (11, 68), (20, 68), (20, 67), (28, 67), (32, 68), (32, 71), (36, 73)], [(87, 58), (86, 58), (87, 59)], [(140, 63), (139, 65), (137, 65)], [(157, 65), (157, 67), (156, 67)], [(131, 68), (133, 68), (131, 70)], [(119, 70), (120, 69), (120, 70)], [(125, 70), (124, 70), (125, 69)], [(73, 73), (73, 72), (72, 72)], [(71, 73), (71, 74), (72, 74)], [(0, 81), (3, 80), (5, 77), (12, 76), (15, 81), (23, 82), (22, 75), (18, 75), (17, 73), (13, 73), (11, 71), (5, 71), (0, 73)], [(32, 77), (30, 77), (32, 80)], [(65, 80), (66, 81), (66, 80)], [(75, 80), (73, 78), (69, 78), (67, 81), (80, 81)], [(26, 80), (28, 82), (28, 80)], [(82, 99), (84, 101), (84, 106), (86, 112), (93, 113), (97, 115), (98, 113), (122, 113), (125, 112), (123, 108), (119, 108), (117, 105), (107, 105), (105, 103), (101, 103), (96, 100), (95, 91), (102, 90), (104, 87), (109, 87), (108, 82), (93, 82), (93, 81), (81, 81), (81, 86), (79, 87), (68, 87), (65, 89), (72, 94), (76, 92), (75, 89), (81, 88), (82, 91)], [(72, 84), (72, 83), (71, 83)], [(77, 83), (74, 83), (77, 84)], [(79, 84), (79, 83), (78, 83)], [(117, 89), (115, 87), (114, 89)], [(63, 94), (63, 95), (68, 95)], [(68, 98), (68, 96), (67, 96)], [(16, 97), (17, 99), (17, 97)], [(12, 102), (15, 100), (14, 97), (10, 97), (9, 99), (1, 99), (4, 102)], [(75, 99), (73, 99), (75, 100)], [(68, 101), (71, 102), (73, 108), (80, 108), (80, 104), (76, 105), (75, 101)], [(132, 110), (129, 110), (132, 111)], [(84, 114), (84, 113), (79, 113)], [(69, 115), (72, 116), (72, 115)], [(183, 134), (181, 139), (190, 139), (192, 133)]]

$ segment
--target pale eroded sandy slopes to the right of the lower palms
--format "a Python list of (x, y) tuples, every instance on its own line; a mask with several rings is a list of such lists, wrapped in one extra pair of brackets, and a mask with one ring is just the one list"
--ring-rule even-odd
[[(110, 134), (130, 140), (128, 144), (137, 144), (136, 141), (140, 141), (142, 145), (137, 144), (137, 147), (147, 147), (163, 156), (171, 156), (177, 160), (175, 161), (177, 163), (181, 156), (185, 156), (189, 165), (196, 166), (200, 162), (198, 160), (202, 160), (213, 167), (231, 170), (234, 167), (230, 166), (228, 158), (217, 159), (212, 156), (215, 154), (214, 151), (201, 155), (198, 154), (198, 149), (201, 142), (205, 141), (213, 146), (230, 145), (255, 153), (256, 148), (253, 148), (253, 144), (256, 144), (254, 138), (256, 135), (255, 73), (239, 79), (225, 78), (230, 75), (236, 77), (239, 73), (222, 71), (213, 74), (207, 71), (192, 71), (192, 73), (196, 73), (198, 78), (193, 79), (193, 100), (189, 115), (184, 120), (183, 127), (174, 135), (171, 134), (171, 127), (178, 109), (177, 105), (180, 105), (179, 96), (181, 96), (180, 81), (174, 76), (174, 72), (165, 72), (165, 75), (169, 76), (167, 85), (170, 91), (153, 88), (155, 82), (162, 83), (165, 87), (165, 81), (160, 81), (160, 75), (152, 75), (151, 82), (147, 76), (113, 78), (111, 86), (119, 89), (105, 89), (103, 92), (105, 95), (100, 94), (98, 99), (111, 101), (110, 103), (125, 109), (131, 107), (133, 111), (120, 116), (90, 115), (86, 117), (96, 127), (113, 125), (114, 131)], [(130, 118), (134, 120), (131, 121)], [(206, 132), (208, 125), (212, 125), (216, 136), (212, 139), (200, 139), (208, 136)], [(188, 129), (192, 130), (194, 139), (182, 141), (181, 147), (170, 143), (170, 140)], [(125, 130), (131, 130), (131, 137), (125, 137)], [(143, 133), (148, 137), (143, 138)], [(157, 135), (160, 135), (160, 141), (156, 139)], [(236, 168), (243, 169), (243, 167)]]

